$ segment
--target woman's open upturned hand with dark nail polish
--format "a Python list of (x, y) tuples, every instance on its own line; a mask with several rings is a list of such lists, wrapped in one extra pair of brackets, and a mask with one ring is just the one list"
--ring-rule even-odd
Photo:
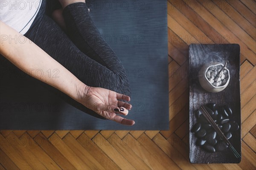
[(125, 119), (116, 113), (126, 116), (131, 110), (131, 104), (119, 100), (130, 101), (130, 97), (119, 94), (105, 88), (83, 87), (79, 93), (79, 102), (85, 107), (95, 111), (106, 119), (121, 123), (122, 125), (134, 125), (134, 120)]

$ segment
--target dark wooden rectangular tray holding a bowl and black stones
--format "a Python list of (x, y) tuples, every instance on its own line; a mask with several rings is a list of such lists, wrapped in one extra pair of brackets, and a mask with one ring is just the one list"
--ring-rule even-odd
[[(229, 61), (230, 82), (224, 91), (210, 93), (205, 91), (198, 80), (199, 71), (209, 62)], [(208, 153), (195, 145), (196, 137), (191, 132), (196, 123), (194, 111), (201, 105), (213, 102), (228, 104), (233, 111), (232, 119), (239, 124), (229, 141), (241, 154), (241, 100), (240, 100), (240, 46), (238, 44), (191, 44), (189, 45), (189, 159), (191, 163), (239, 163), (232, 151)]]

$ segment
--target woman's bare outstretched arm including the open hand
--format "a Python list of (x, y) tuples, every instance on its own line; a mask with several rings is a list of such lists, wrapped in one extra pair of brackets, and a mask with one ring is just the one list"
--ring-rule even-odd
[[(123, 112), (121, 107), (131, 109), (131, 105), (117, 100), (124, 99), (129, 101), (130, 98), (128, 96), (117, 94), (107, 89), (92, 88), (85, 85), (35, 43), (2, 21), (0, 21), (0, 54), (25, 73), (58, 88), (77, 102), (82, 103), (105, 118), (125, 125), (134, 124), (134, 121), (120, 116), (117, 117), (114, 113), (114, 109), (119, 109), (119, 111), (121, 110), (119, 113), (128, 114), (128, 111), (125, 110), (126, 112)], [(50, 71), (56, 69), (58, 78), (49, 76), (51, 75), (49, 74), (49, 69)], [(109, 105), (109, 103), (111, 104)]]

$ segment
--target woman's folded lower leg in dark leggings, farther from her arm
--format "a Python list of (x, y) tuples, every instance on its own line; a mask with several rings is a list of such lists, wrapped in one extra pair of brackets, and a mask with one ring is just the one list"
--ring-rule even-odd
[(63, 10), (63, 17), (67, 34), (80, 51), (123, 79), (127, 79), (125, 68), (112, 48), (102, 39), (90, 17), (86, 3), (67, 5)]

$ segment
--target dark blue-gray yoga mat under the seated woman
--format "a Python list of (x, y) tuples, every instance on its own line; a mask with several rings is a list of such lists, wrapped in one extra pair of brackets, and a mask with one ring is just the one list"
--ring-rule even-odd
[(120, 57), (131, 84), (128, 127), (87, 115), (23, 72), (1, 68), (0, 129), (167, 130), (169, 86), (166, 0), (87, 0), (90, 14)]

